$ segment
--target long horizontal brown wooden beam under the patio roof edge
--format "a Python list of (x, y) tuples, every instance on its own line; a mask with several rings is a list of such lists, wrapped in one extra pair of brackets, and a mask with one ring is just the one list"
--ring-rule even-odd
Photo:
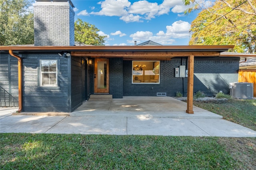
[(220, 53), (216, 51), (192, 51), (192, 52), (173, 52), (173, 51), (72, 51), (75, 57), (216, 57)]

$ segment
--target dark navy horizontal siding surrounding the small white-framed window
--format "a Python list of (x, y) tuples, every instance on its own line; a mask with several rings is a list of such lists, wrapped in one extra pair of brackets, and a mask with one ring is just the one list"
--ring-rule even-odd
[[(23, 54), (22, 111), (70, 112), (70, 59), (58, 53)], [(58, 60), (58, 87), (40, 87), (40, 59)]]

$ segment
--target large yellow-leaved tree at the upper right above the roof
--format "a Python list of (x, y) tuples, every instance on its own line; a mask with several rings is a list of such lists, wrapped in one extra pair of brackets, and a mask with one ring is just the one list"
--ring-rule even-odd
[(235, 45), (234, 52), (256, 53), (256, 0), (183, 1), (194, 4), (185, 13), (202, 10), (192, 21), (190, 45)]

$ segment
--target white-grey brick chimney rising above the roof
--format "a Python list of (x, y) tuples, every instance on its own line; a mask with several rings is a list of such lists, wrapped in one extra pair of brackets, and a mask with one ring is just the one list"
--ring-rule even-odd
[(33, 7), (35, 46), (75, 44), (75, 12), (70, 0), (36, 0)]

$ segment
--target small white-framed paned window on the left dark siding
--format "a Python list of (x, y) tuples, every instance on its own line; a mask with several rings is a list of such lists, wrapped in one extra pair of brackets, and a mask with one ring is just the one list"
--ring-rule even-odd
[(57, 60), (40, 60), (40, 86), (58, 86)]

